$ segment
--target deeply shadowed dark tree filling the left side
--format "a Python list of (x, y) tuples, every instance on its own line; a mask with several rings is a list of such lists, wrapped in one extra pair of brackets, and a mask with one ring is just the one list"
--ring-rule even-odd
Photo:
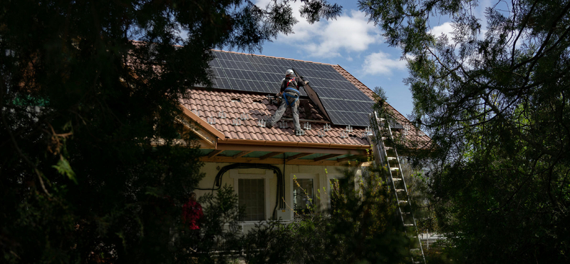
[[(309, 21), (341, 9), (304, 3)], [(174, 261), (169, 229), (202, 177), (178, 100), (211, 84), (210, 49), (261, 49), (295, 22), (289, 1), (2, 1), (4, 261)]]

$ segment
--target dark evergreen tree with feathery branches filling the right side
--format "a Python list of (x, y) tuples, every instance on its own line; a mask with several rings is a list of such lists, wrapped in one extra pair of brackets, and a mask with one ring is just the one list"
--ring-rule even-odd
[[(569, 1), (361, 0), (408, 59), (440, 228), (465, 263), (570, 261)], [(430, 21), (452, 22), (452, 37)], [(487, 25), (486, 28), (484, 25)]]

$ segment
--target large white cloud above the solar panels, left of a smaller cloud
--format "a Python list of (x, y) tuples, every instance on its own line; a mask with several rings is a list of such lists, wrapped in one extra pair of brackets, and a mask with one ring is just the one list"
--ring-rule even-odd
[[(257, 1), (257, 6), (263, 7), (268, 0)], [(302, 1), (291, 3), (294, 16), (299, 21), (294, 27), (294, 34), (280, 35), (276, 41), (290, 42), (297, 49), (311, 53), (316, 57), (341, 56), (341, 51), (361, 52), (368, 46), (381, 41), (380, 30), (374, 24), (368, 24), (368, 19), (361, 11), (349, 11), (336, 20), (321, 19), (309, 24), (299, 14)]]

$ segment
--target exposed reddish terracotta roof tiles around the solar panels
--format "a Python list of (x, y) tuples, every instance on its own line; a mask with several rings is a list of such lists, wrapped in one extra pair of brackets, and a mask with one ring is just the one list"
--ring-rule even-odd
[[(262, 56), (262, 55), (254, 55)], [(273, 59), (284, 59), (271, 56), (264, 56)], [(291, 61), (299, 61), (294, 59), (284, 59)], [(310, 61), (304, 61), (310, 62)], [(321, 63), (316, 63), (321, 64)], [(331, 64), (327, 64), (331, 65)], [(348, 81), (360, 89), (366, 96), (374, 99), (373, 91), (365, 86), (361, 81), (348, 73), (344, 68), (338, 65), (331, 65), (333, 68), (341, 73), (341, 75)], [(343, 145), (368, 145), (368, 140), (363, 137), (366, 129), (362, 127), (353, 128), (352, 132), (348, 133), (346, 137), (346, 126), (335, 126), (329, 123), (324, 118), (323, 113), (318, 111), (318, 107), (310, 102), (305, 111), (303, 106), (299, 107), (299, 118), (311, 120), (311, 130), (306, 130), (304, 136), (296, 136), (293, 131), (293, 121), (286, 121), (288, 128), (279, 128), (279, 123), (273, 128), (265, 128), (258, 126), (259, 120), (267, 120), (273, 116), (277, 106), (272, 105), (269, 99), (261, 94), (247, 93), (244, 91), (236, 90), (221, 90), (213, 89), (207, 90), (203, 88), (192, 89), (187, 98), (182, 99), (182, 106), (185, 106), (190, 111), (195, 111), (197, 115), (204, 121), (208, 118), (215, 118), (215, 123), (212, 124), (218, 131), (224, 133), (226, 138), (231, 139), (244, 139), (244, 140), (259, 140), (259, 141), (290, 141), (290, 142), (306, 142), (306, 143), (337, 143)], [(410, 128), (406, 133), (408, 137), (419, 140), (420, 142), (429, 142), (430, 138), (421, 131), (416, 131), (405, 116), (395, 110), (392, 106), (388, 105), (388, 109), (393, 111), (398, 123), (402, 124), (405, 128)], [(309, 113), (310, 110), (310, 113)], [(219, 114), (225, 113), (226, 118), (220, 118)], [(232, 125), (235, 118), (240, 118), (242, 113), (248, 113), (248, 119), (242, 121), (240, 126)], [(281, 118), (291, 118), (291, 109), (288, 108), (284, 116)], [(301, 126), (304, 126), (306, 121), (301, 121)], [(331, 130), (326, 131), (323, 137), (318, 136), (318, 131), (328, 123), (331, 125)]]

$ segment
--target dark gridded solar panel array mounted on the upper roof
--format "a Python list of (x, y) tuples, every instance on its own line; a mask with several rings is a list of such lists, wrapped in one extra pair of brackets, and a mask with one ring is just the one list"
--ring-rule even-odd
[[(310, 80), (333, 124), (368, 126), (374, 102), (332, 66), (222, 51), (214, 51), (214, 56), (209, 62), (214, 88), (277, 93), (286, 69), (294, 68)], [(300, 91), (306, 96), (303, 89)]]

